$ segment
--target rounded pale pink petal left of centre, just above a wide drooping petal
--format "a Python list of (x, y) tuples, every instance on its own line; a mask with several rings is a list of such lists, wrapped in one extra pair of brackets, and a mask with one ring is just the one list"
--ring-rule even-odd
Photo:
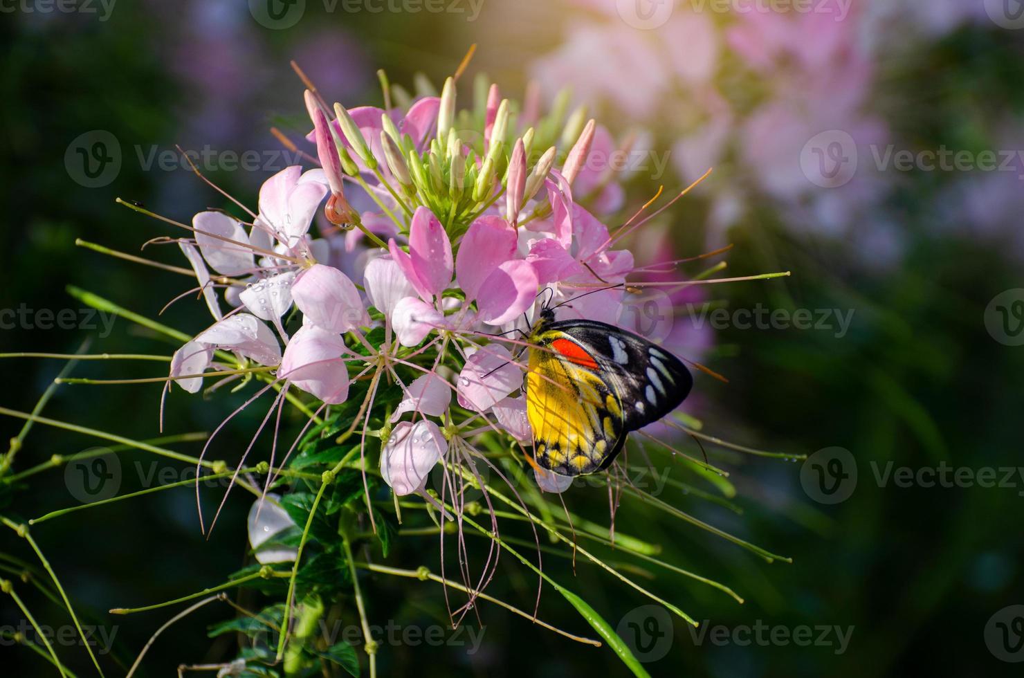
[(317, 263), (303, 271), (292, 296), (305, 320), (325, 330), (343, 334), (370, 324), (359, 291), (334, 266)]

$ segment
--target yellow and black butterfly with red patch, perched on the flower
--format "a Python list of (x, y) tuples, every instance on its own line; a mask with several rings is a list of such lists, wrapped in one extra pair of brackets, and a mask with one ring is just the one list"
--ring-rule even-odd
[(559, 475), (603, 471), (626, 436), (675, 410), (693, 377), (643, 337), (544, 308), (529, 337), (526, 418), (535, 460)]

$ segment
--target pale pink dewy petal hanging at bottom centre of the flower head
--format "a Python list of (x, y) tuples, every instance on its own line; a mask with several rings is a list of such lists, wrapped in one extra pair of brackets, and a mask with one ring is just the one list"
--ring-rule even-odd
[(399, 422), (381, 451), (381, 476), (403, 497), (422, 490), (437, 462), (447, 453), (447, 440), (432, 421)]

